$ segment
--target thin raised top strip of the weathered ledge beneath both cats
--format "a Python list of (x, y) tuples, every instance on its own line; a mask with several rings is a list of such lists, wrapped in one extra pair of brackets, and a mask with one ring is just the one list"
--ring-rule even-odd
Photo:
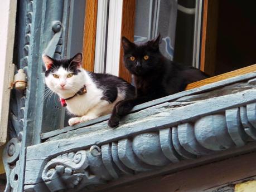
[[(177, 101), (190, 100), (191, 101), (192, 99), (200, 100), (200, 99), (206, 99), (207, 97), (209, 98), (209, 97), (227, 95), (228, 93), (239, 92), (241, 90), (246, 90), (246, 89), (254, 87), (255, 85), (254, 85), (254, 83), (252, 83), (253, 82), (252, 79), (255, 77), (256, 77), (255, 72), (247, 73), (245, 75), (229, 78), (229, 79), (219, 81), (216, 83), (212, 83), (209, 85), (194, 88), (192, 90), (182, 91), (182, 92), (176, 93), (174, 95), (170, 95), (170, 96), (158, 99), (158, 100), (154, 100), (154, 101), (146, 102), (145, 104), (138, 105), (138, 106), (134, 107), (134, 109), (131, 112), (140, 111), (140, 110), (146, 109), (148, 107), (152, 107), (154, 105), (162, 104), (164, 102), (170, 102), (170, 101), (175, 101), (175, 100), (177, 100)], [(251, 83), (248, 83), (248, 80)], [(241, 83), (241, 82), (244, 82), (244, 83)], [(237, 84), (234, 85), (235, 83), (237, 83)], [(204, 94), (200, 95), (200, 93), (204, 93)], [(178, 99), (180, 99), (180, 100), (178, 100)], [(44, 134), (41, 134), (41, 139), (45, 140), (45, 139), (48, 139), (49, 137), (53, 137), (55, 135), (59, 135), (64, 132), (67, 132), (67, 131), (76, 130), (76, 129), (79, 129), (79, 128), (85, 127), (85, 126), (89, 127), (90, 125), (94, 125), (99, 122), (106, 121), (109, 119), (109, 117), (110, 117), (109, 115), (106, 115), (103, 117), (99, 117), (98, 119), (94, 119), (94, 120), (85, 122), (83, 124), (78, 124), (75, 126), (67, 126), (60, 130), (46, 132)]]

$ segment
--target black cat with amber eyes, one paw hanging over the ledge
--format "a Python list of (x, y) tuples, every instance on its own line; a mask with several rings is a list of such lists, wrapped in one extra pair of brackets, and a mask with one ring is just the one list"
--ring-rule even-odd
[[(185, 90), (187, 84), (207, 76), (197, 68), (172, 62), (159, 50), (161, 36), (145, 43), (135, 44), (122, 37), (124, 65), (134, 75), (136, 97), (119, 101), (109, 119), (109, 126), (116, 127), (120, 118), (134, 106)], [(148, 56), (145, 60), (144, 56)], [(135, 60), (132, 61), (131, 57)]]

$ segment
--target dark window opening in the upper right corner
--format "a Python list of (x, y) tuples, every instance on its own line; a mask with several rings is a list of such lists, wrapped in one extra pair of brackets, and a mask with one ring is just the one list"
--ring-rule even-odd
[(215, 75), (256, 63), (256, 1), (219, 1)]

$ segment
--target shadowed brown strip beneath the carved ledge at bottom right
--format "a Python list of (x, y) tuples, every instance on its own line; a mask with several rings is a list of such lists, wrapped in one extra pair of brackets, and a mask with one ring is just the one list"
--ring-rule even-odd
[(113, 187), (113, 182), (109, 183), (108, 186), (99, 186), (98, 189), (89, 191), (234, 192), (235, 184), (255, 179), (256, 170), (252, 169), (255, 160), (256, 152), (253, 152), (218, 161), (214, 164), (196, 166), (193, 169), (162, 174), (143, 181), (135, 181), (125, 186)]

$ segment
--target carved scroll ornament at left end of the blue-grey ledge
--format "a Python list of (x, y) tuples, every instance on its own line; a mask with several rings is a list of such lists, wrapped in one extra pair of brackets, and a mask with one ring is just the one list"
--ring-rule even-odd
[(68, 152), (50, 160), (42, 173), (42, 180), (50, 191), (62, 189), (81, 189), (79, 186), (86, 184), (103, 184), (94, 175), (90, 175), (86, 168), (89, 167), (89, 160), (85, 150)]

